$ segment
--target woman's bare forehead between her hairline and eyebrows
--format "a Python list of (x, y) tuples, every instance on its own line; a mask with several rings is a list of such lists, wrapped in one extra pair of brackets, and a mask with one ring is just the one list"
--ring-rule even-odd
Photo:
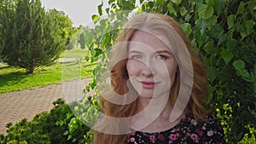
[(129, 51), (132, 49), (152, 49), (155, 51), (168, 50), (171, 51), (171, 46), (166, 42), (164, 35), (154, 35), (141, 30), (136, 31), (131, 37), (129, 43)]

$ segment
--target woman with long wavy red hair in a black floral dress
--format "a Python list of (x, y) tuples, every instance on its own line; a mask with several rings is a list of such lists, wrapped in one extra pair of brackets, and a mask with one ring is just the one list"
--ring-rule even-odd
[(133, 17), (109, 65), (114, 93), (101, 96), (96, 144), (224, 143), (222, 126), (205, 106), (206, 67), (171, 17)]

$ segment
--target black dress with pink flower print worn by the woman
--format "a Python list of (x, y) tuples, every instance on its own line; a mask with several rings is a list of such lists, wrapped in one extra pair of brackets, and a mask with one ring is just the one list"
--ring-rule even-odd
[(197, 122), (189, 115), (186, 115), (180, 122), (170, 130), (147, 133), (134, 131), (130, 133), (127, 144), (220, 144), (224, 141), (224, 130), (218, 120), (208, 117), (207, 121)]

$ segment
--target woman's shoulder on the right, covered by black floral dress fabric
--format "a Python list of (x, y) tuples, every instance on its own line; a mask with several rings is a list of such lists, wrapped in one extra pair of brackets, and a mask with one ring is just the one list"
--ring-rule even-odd
[(183, 118), (183, 123), (187, 126), (184, 130), (188, 141), (191, 142), (224, 142), (224, 130), (218, 118), (208, 115), (206, 120), (195, 120), (190, 115)]

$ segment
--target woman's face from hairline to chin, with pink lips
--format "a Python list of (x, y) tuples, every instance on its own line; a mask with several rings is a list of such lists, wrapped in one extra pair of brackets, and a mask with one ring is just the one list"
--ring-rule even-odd
[(170, 93), (177, 72), (172, 50), (158, 37), (143, 31), (134, 33), (129, 42), (126, 69), (131, 85), (145, 98)]

